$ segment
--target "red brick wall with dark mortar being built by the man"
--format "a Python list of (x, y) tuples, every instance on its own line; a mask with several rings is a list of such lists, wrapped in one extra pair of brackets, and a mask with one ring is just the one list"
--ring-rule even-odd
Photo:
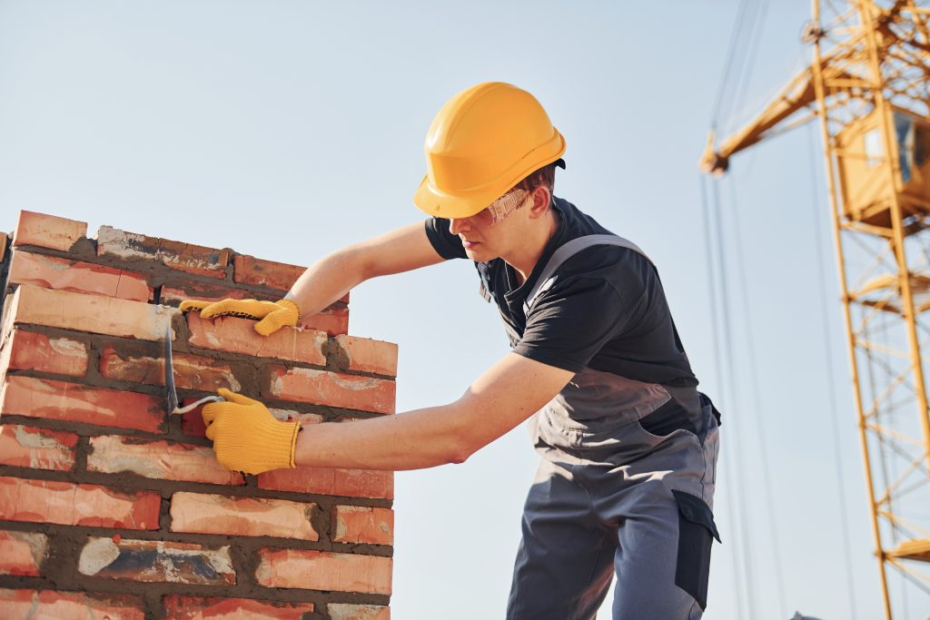
[(226, 387), (309, 423), (392, 414), (396, 346), (348, 296), (262, 338), (184, 298), (283, 296), (302, 268), (23, 211), (0, 233), (0, 617), (386, 620), (391, 472), (241, 476), (200, 412)]

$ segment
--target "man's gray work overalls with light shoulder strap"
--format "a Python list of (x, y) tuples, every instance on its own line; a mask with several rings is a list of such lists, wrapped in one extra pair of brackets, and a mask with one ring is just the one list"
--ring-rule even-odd
[[(594, 244), (643, 254), (615, 235), (562, 245), (527, 297), (527, 316), (559, 266)], [(666, 433), (661, 419), (652, 421), (671, 408), (686, 412), (687, 428)], [(711, 535), (719, 540), (711, 515), (718, 416), (693, 387), (587, 368), (530, 418), (542, 458), (526, 498), (507, 618), (592, 619), (615, 573), (615, 620), (701, 617)]]

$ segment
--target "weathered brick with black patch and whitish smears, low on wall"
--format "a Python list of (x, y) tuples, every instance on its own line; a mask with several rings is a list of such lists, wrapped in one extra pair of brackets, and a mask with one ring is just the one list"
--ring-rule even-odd
[(235, 584), (228, 546), (114, 538), (89, 537), (77, 562), (78, 573), (147, 583)]

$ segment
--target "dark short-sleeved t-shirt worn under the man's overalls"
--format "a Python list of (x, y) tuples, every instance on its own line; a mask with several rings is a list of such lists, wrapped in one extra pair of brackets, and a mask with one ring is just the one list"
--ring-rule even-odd
[[(558, 229), (524, 284), (502, 258), (476, 262), (485, 297), (511, 328), (511, 346), (524, 357), (574, 373), (585, 367), (638, 381), (695, 386), (669, 305), (652, 263), (634, 250), (594, 245), (556, 270), (529, 317), (524, 301), (555, 250), (589, 234), (610, 234), (561, 198), (552, 199)], [(431, 218), (426, 233), (441, 257), (466, 258), (449, 220)], [(518, 336), (518, 337), (517, 337)]]

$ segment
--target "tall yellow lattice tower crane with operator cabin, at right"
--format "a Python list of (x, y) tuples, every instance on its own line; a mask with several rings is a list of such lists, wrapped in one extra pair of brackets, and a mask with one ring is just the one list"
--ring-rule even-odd
[(817, 119), (885, 616), (889, 569), (930, 592), (930, 0), (813, 0), (804, 71), (704, 170)]

